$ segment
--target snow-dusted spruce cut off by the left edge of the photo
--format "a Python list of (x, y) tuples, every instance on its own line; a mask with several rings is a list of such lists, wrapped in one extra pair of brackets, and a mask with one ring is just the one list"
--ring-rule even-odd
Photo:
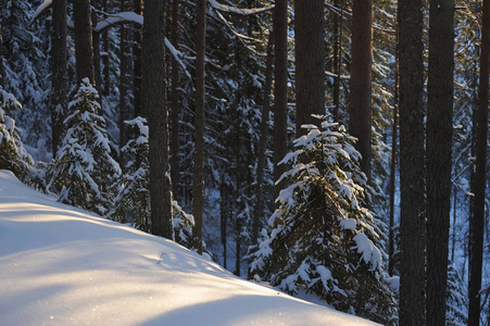
[(24, 149), (22, 133), (11, 114), (22, 109), (15, 97), (0, 87), (0, 170), (12, 171), (23, 183), (42, 188), (34, 160)]

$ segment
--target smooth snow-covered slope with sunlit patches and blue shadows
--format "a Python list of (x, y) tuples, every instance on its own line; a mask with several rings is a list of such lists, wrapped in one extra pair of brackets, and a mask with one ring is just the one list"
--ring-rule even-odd
[(0, 171), (0, 325), (372, 325), (235, 277)]

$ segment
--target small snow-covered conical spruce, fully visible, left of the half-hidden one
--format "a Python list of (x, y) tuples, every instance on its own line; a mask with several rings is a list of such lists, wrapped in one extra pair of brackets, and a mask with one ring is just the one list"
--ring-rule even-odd
[(88, 78), (80, 83), (68, 104), (66, 134), (51, 168), (48, 187), (59, 200), (96, 213), (104, 213), (110, 195), (106, 189), (121, 174), (111, 156), (105, 121), (99, 114), (99, 95)]

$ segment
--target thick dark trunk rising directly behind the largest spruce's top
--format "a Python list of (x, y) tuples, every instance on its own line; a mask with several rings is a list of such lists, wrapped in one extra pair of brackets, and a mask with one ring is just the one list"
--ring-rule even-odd
[[(325, 3), (322, 0), (297, 0), (294, 3), (297, 20), (297, 136), (300, 136), (305, 133), (304, 129), (301, 129), (301, 125), (316, 122), (312, 118), (312, 114), (323, 115), (326, 113)], [(317, 46), (312, 47), (312, 45)]]

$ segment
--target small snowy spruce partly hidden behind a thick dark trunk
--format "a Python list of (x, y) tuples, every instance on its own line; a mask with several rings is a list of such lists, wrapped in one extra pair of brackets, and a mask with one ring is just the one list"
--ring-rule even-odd
[[(130, 223), (134, 227), (146, 233), (151, 230), (150, 206), (150, 163), (148, 123), (143, 117), (136, 117), (125, 122), (135, 129), (135, 137), (129, 139), (121, 150), (128, 158), (125, 172), (112, 185), (116, 193), (114, 204), (108, 216), (120, 223)], [(192, 247), (191, 226), (192, 215), (187, 214), (174, 200), (174, 230), (175, 241)]]

